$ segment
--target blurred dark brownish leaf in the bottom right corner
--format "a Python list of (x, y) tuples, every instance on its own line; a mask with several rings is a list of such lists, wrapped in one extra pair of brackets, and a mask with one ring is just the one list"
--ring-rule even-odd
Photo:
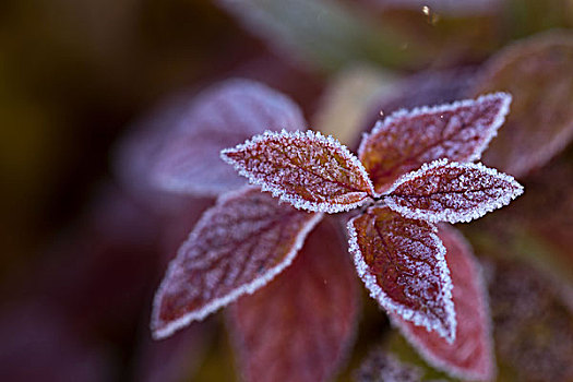
[(501, 381), (571, 381), (573, 318), (559, 285), (515, 261), (498, 259), (490, 280)]

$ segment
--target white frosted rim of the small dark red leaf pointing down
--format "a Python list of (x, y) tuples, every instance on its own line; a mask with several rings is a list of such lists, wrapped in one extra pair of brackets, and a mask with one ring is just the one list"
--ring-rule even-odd
[(433, 230), (433, 232), (430, 232), (430, 238), (434, 241), (439, 249), (439, 252), (437, 253), (435, 258), (438, 259), (440, 279), (443, 282), (442, 300), (444, 302), (444, 309), (450, 321), (450, 332), (445, 331), (445, 329), (440, 324), (440, 322), (429, 320), (427, 317), (423, 317), (419, 312), (410, 308), (404, 307), (399, 303), (396, 303), (390, 296), (387, 296), (384, 293), (384, 290), (382, 290), (382, 288), (378, 285), (377, 279), (372, 275), (372, 273), (368, 272), (370, 267), (365, 262), (362, 252), (360, 251), (360, 247), (358, 246), (357, 231), (354, 227), (354, 220), (358, 217), (359, 216), (353, 217), (348, 220), (346, 225), (348, 229), (348, 247), (350, 253), (353, 254), (356, 272), (358, 273), (358, 276), (360, 276), (367, 289), (369, 290), (370, 297), (377, 300), (379, 305), (387, 311), (398, 314), (399, 317), (404, 318), (404, 320), (411, 321), (417, 326), (423, 326), (427, 330), (434, 330), (449, 343), (453, 343), (455, 341), (455, 333), (457, 326), (454, 302), (452, 298), (453, 286), (450, 277), (450, 268), (447, 267), (447, 263), (445, 262), (445, 247), (442, 240), (437, 235), (438, 228), (433, 225), (430, 225)]

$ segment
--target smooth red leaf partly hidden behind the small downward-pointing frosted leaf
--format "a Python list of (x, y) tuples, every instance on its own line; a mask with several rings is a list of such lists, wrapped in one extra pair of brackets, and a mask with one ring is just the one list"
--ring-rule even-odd
[(462, 380), (490, 381), (496, 373), (491, 322), (479, 264), (471, 249), (455, 229), (440, 226), (445, 260), (453, 283), (457, 320), (455, 341), (449, 343), (426, 327), (392, 314), (392, 322), (429, 363)]

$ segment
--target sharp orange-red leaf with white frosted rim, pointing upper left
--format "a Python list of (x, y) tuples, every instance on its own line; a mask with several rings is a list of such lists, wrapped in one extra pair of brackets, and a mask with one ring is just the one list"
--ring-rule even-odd
[(332, 136), (307, 131), (255, 135), (222, 157), (263, 191), (297, 208), (336, 213), (374, 193), (362, 164)]

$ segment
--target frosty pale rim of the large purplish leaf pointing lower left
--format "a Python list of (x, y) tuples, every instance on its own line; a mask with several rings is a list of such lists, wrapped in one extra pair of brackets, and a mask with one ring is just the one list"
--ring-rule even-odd
[(252, 295), (254, 291), (265, 286), (268, 282), (271, 282), (275, 276), (277, 276), (280, 272), (283, 272), (287, 266), (289, 266), (293, 263), (298, 251), (302, 248), (302, 244), (305, 243), (305, 239), (307, 238), (308, 234), (310, 234), (310, 231), (314, 228), (314, 226), (317, 226), (317, 224), (323, 217), (323, 214), (321, 213), (313, 214), (314, 216), (303, 225), (302, 229), (297, 235), (295, 244), (293, 246), (291, 250), (286, 254), (284, 261), (280, 262), (278, 265), (270, 268), (263, 275), (253, 279), (251, 283), (241, 285), (240, 287), (232, 289), (226, 296), (214, 299), (213, 301), (205, 305), (202, 309), (188, 312), (183, 314), (182, 317), (180, 317), (179, 319), (168, 322), (164, 327), (157, 329), (160, 322), (159, 320), (160, 297), (163, 296), (167, 287), (166, 286), (167, 276), (171, 275), (175, 272), (175, 268), (180, 266), (180, 262), (181, 262), (180, 259), (183, 258), (188, 243), (193, 241), (199, 236), (199, 232), (206, 225), (208, 225), (207, 222), (210, 222), (211, 217), (215, 214), (215, 208), (217, 206), (220, 206), (222, 204), (224, 204), (230, 199), (241, 196), (243, 193), (250, 191), (251, 189), (253, 189), (253, 187), (244, 187), (237, 191), (231, 191), (231, 192), (227, 192), (223, 194), (217, 200), (215, 206), (207, 210), (203, 214), (203, 216), (198, 222), (198, 224), (195, 225), (191, 234), (189, 234), (189, 237), (187, 238), (187, 240), (179, 248), (177, 252), (177, 256), (174, 260), (171, 260), (171, 262), (169, 263), (167, 272), (153, 300), (151, 330), (152, 330), (152, 336), (154, 339), (166, 338), (170, 336), (171, 334), (174, 334), (176, 331), (189, 325), (191, 322), (203, 320), (208, 314), (215, 312), (222, 307), (229, 305), (230, 302), (235, 301), (240, 296), (244, 294)]

